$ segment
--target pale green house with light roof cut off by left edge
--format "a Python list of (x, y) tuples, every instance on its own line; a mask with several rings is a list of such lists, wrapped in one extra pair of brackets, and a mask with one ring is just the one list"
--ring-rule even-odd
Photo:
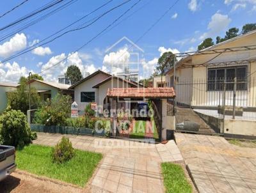
[(0, 82), (0, 113), (7, 107), (7, 95), (6, 93), (15, 91), (18, 84)]

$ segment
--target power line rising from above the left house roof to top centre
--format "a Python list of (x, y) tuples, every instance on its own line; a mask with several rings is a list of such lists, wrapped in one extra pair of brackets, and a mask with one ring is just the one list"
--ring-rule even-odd
[(122, 13), (122, 15), (120, 15), (117, 19), (115, 19), (111, 24), (109, 24), (107, 27), (105, 27), (102, 31), (100, 31), (100, 33), (98, 33), (96, 36), (94, 36), (91, 40), (89, 40), (88, 42), (84, 43), (83, 45), (81, 45), (81, 47), (79, 47), (78, 49), (76, 49), (74, 52), (72, 52), (71, 54), (69, 54), (67, 57), (65, 57), (64, 59), (62, 59), (61, 61), (59, 61), (58, 63), (50, 66), (49, 68), (45, 68), (44, 70), (41, 70), (40, 74), (42, 74), (42, 72), (45, 72), (46, 70), (51, 69), (52, 67), (60, 64), (61, 62), (65, 61), (65, 59), (69, 58), (70, 56), (72, 56), (73, 54), (75, 54), (76, 52), (78, 52), (79, 50), (83, 49), (84, 46), (88, 45), (88, 43), (92, 42), (93, 40), (95, 40), (98, 36), (100, 36), (102, 33), (104, 33), (104, 31), (106, 31), (109, 27), (113, 26), (113, 24), (115, 24), (115, 22), (117, 22), (120, 18), (122, 18), (127, 12), (129, 12), (134, 6), (136, 6), (136, 4), (140, 3), (141, 0), (136, 1), (136, 3), (132, 4), (132, 6), (126, 10), (124, 13)]

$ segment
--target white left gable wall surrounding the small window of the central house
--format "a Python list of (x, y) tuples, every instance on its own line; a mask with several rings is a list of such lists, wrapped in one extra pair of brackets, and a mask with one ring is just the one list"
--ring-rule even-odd
[(78, 105), (78, 111), (84, 111), (84, 108), (86, 107), (86, 105), (89, 104), (88, 102), (81, 102), (81, 92), (95, 92), (95, 102), (97, 102), (98, 104), (98, 100), (99, 100), (98, 93), (97, 93), (98, 90), (92, 87), (98, 84), (99, 82), (104, 81), (108, 77), (109, 77), (108, 75), (105, 75), (103, 73), (98, 73), (94, 77), (82, 82), (81, 84), (77, 85), (74, 88), (74, 94), (75, 94), (74, 98)]

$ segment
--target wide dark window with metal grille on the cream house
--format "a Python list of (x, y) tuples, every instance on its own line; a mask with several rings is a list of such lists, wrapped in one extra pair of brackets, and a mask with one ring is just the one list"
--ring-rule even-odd
[(237, 79), (236, 89), (244, 91), (247, 89), (247, 66), (236, 66), (227, 68), (209, 68), (207, 90), (220, 91), (223, 90), (224, 82), (226, 82), (226, 90), (234, 89), (234, 78)]

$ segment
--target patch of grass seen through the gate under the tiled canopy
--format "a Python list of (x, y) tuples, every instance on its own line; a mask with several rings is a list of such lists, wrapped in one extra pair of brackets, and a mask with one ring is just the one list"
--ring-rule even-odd
[(147, 130), (146, 121), (142, 121), (142, 120), (136, 121), (135, 128), (132, 129), (132, 133), (130, 134), (130, 137), (138, 138), (138, 139), (145, 138), (148, 136), (153, 137), (154, 139), (159, 138), (155, 122), (154, 122), (154, 126), (152, 126), (152, 129), (148, 128), (148, 131), (150, 131), (149, 134), (145, 134), (146, 130)]

